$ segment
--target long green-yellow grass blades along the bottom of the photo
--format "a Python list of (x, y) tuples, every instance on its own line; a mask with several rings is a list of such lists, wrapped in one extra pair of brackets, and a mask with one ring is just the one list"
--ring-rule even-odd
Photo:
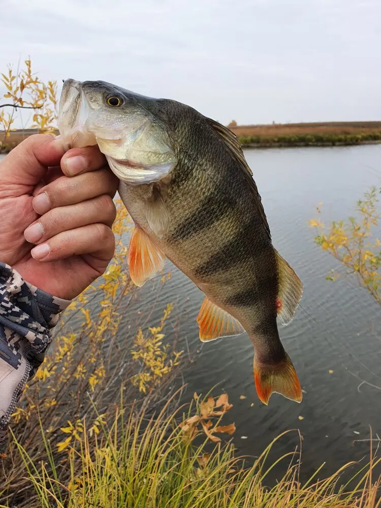
[[(229, 408), (219, 411), (225, 417)], [(221, 399), (221, 397), (219, 397)], [(214, 399), (212, 399), (214, 400)], [(268, 464), (274, 442), (264, 450), (251, 467), (236, 458), (231, 442), (217, 442), (211, 448), (200, 420), (213, 418), (211, 398), (197, 398), (188, 407), (167, 415), (170, 401), (155, 416), (144, 410), (128, 409), (122, 397), (110, 427), (102, 423), (99, 433), (90, 434), (85, 422), (73, 446), (67, 448), (70, 478), (58, 480), (61, 467), (48, 439), (45, 444), (49, 468), (36, 464), (17, 443), (27, 469), (30, 485), (37, 494), (35, 504), (42, 508), (376, 508), (379, 479), (372, 471), (379, 461), (370, 461), (352, 478), (355, 487), (340, 486), (346, 464), (329, 478), (312, 477), (299, 482), (298, 451)], [(209, 404), (209, 407), (207, 407)], [(218, 405), (218, 400), (214, 401)], [(212, 410), (216, 408), (213, 407)], [(209, 411), (209, 412), (208, 412)], [(194, 414), (195, 413), (195, 414)], [(203, 420), (204, 421), (204, 420)], [(217, 421), (217, 424), (219, 421)], [(209, 429), (213, 427), (208, 425)], [(231, 426), (227, 426), (230, 428)], [(227, 427), (216, 427), (224, 431)], [(206, 429), (206, 430), (209, 430)], [(284, 435), (284, 434), (282, 434)], [(281, 437), (281, 436), (279, 436)], [(267, 485), (272, 468), (283, 468), (281, 479)]]

